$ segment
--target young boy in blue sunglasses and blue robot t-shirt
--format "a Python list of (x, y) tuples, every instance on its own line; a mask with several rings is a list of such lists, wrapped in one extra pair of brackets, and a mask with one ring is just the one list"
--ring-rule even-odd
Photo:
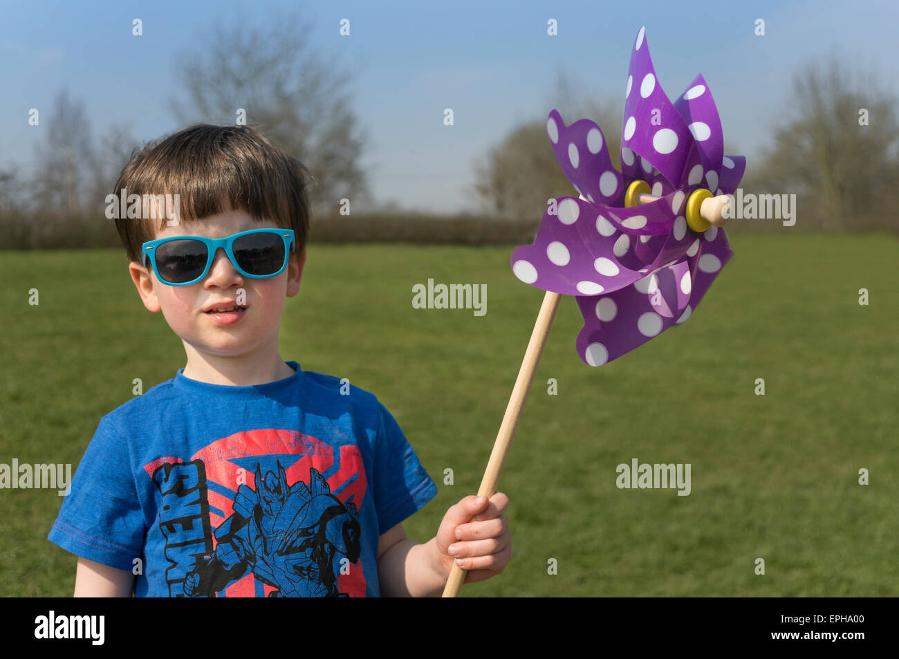
[(297, 160), (254, 129), (193, 126), (132, 157), (115, 190), (178, 202), (116, 226), (187, 365), (104, 416), (85, 450), (48, 537), (79, 557), (76, 596), (437, 596), (454, 560), (467, 583), (503, 571), (504, 494), (406, 539), (437, 487), (394, 417), (280, 358), (307, 257)]

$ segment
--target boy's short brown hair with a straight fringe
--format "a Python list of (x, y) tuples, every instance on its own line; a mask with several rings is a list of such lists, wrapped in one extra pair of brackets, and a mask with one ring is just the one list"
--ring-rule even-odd
[[(197, 124), (150, 142), (122, 169), (115, 184), (127, 194), (179, 195), (179, 221), (199, 221), (227, 210), (244, 210), (257, 221), (294, 230), (296, 255), (309, 233), (307, 175), (296, 158), (248, 126)], [(142, 262), (141, 249), (163, 218), (116, 218), (129, 261)]]

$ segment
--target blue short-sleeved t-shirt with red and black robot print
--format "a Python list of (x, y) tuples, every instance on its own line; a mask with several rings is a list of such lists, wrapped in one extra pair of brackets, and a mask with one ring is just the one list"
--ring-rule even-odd
[(48, 539), (139, 572), (136, 597), (378, 597), (380, 535), (437, 486), (375, 396), (287, 363), (181, 369), (104, 416)]

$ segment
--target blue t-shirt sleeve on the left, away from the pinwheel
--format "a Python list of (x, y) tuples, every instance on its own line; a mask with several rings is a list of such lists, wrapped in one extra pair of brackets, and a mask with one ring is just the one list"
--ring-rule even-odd
[(104, 416), (72, 478), (47, 539), (59, 547), (120, 570), (142, 554), (146, 527), (128, 438)]

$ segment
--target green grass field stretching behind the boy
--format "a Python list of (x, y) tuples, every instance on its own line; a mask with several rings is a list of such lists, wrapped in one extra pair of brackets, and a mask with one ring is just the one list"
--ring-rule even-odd
[[(685, 325), (598, 369), (574, 352), (581, 316), (563, 298), (500, 481), (512, 562), (463, 596), (899, 595), (899, 241), (732, 243)], [(493, 446), (543, 297), (513, 277), (511, 249), (312, 245), (288, 301), (281, 356), (375, 393), (438, 483), (411, 538), (476, 492)], [(122, 250), (0, 252), (0, 275), (0, 462), (74, 470), (133, 378), (174, 377), (182, 343), (141, 305)], [(485, 283), (486, 315), (414, 309), (428, 278)], [(690, 495), (619, 489), (632, 458), (690, 463)], [(61, 501), (0, 490), (0, 594), (71, 594), (76, 558), (46, 539)]]

